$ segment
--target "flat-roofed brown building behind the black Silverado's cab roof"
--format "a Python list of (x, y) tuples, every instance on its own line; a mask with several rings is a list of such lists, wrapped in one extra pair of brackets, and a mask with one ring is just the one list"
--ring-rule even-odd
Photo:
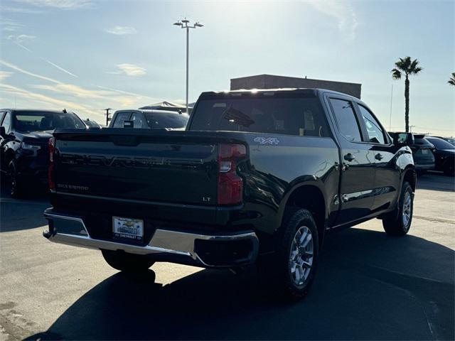
[(309, 87), (327, 89), (350, 94), (360, 99), (362, 85), (332, 80), (312, 80), (310, 78), (285, 77), (274, 75), (255, 75), (230, 80), (230, 90), (240, 89), (277, 89), (281, 87)]

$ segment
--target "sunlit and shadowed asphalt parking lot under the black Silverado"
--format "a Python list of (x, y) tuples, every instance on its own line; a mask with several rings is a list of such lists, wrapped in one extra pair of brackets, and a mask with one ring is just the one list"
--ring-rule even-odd
[(418, 180), (410, 234), (379, 220), (331, 234), (311, 293), (284, 303), (253, 272), (155, 264), (46, 241), (45, 197), (0, 200), (0, 340), (454, 340), (455, 185)]

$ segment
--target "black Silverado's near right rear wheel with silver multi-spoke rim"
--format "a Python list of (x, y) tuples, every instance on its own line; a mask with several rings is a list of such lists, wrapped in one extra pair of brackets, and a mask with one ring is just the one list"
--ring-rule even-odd
[[(277, 250), (274, 256), (267, 261), (262, 261), (259, 264), (259, 271), (262, 277), (267, 275), (269, 284), (274, 289), (277, 289), (278, 293), (297, 300), (304, 298), (309, 292), (309, 288), (313, 283), (314, 276), (316, 274), (316, 266), (318, 264), (319, 257), (319, 237), (316, 222), (314, 222), (313, 215), (308, 210), (292, 210), (284, 217), (284, 224), (282, 226), (282, 237), (277, 245)], [(309, 256), (307, 252), (309, 249), (302, 247), (299, 251), (292, 251), (294, 249), (294, 237), (298, 237), (298, 232), (311, 232), (310, 237), (306, 237), (302, 242), (309, 240), (311, 244), (312, 256)], [(301, 237), (304, 234), (300, 235)], [(299, 238), (298, 238), (299, 239)], [(307, 246), (309, 246), (307, 244)], [(291, 251), (293, 252), (291, 254)], [(294, 254), (294, 257), (293, 257)], [(303, 261), (304, 265), (297, 269), (295, 259)], [(304, 261), (305, 259), (305, 261)], [(305, 264), (306, 263), (306, 264)], [(294, 269), (294, 271), (293, 271)], [(300, 278), (301, 283), (296, 278), (296, 271), (304, 271), (303, 279)]]

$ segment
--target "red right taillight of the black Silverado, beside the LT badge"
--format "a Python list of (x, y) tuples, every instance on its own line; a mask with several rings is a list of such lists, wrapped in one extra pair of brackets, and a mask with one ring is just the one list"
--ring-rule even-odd
[(237, 161), (247, 156), (242, 144), (218, 146), (218, 205), (235, 205), (242, 202), (243, 180), (235, 172)]

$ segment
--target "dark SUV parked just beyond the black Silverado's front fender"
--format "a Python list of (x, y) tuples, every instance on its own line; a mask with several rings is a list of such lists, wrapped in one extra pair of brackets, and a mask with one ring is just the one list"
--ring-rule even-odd
[[(395, 132), (389, 133), (392, 137), (407, 136), (407, 133)], [(412, 150), (412, 157), (414, 158), (414, 166), (417, 174), (422, 174), (434, 169), (434, 146), (427, 141), (426, 137), (422, 134), (414, 134), (414, 141), (410, 141), (408, 146)]]

